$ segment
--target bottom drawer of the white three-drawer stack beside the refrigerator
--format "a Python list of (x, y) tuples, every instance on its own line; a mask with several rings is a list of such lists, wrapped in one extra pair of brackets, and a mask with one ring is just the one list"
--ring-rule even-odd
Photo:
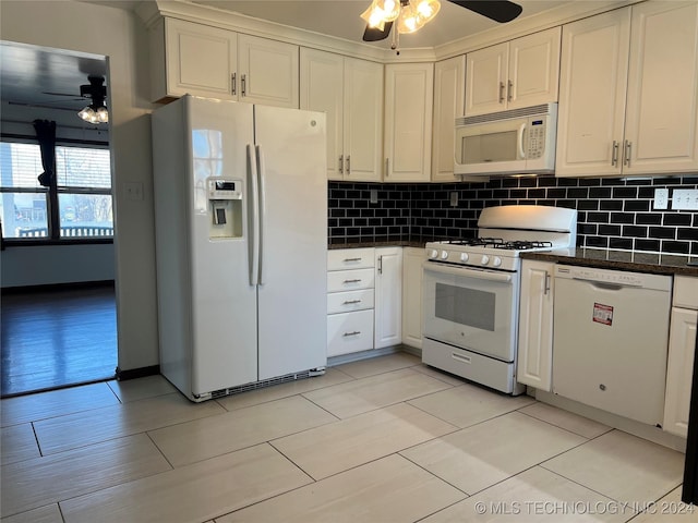
[(327, 356), (373, 349), (373, 309), (327, 316)]

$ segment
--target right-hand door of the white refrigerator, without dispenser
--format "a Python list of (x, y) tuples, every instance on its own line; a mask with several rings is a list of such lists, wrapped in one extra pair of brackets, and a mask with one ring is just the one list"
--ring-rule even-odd
[(261, 172), (258, 379), (327, 357), (325, 115), (255, 106)]

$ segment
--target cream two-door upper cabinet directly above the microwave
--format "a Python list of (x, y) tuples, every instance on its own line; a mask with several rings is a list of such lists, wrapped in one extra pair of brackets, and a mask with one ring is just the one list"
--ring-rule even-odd
[(561, 28), (467, 56), (466, 115), (557, 101)]

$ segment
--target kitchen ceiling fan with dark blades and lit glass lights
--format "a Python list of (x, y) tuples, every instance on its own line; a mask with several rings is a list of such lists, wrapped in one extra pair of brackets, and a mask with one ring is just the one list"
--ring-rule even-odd
[[(510, 22), (522, 11), (518, 3), (507, 0), (446, 1), (498, 23)], [(399, 33), (412, 33), (435, 16), (438, 9), (437, 0), (411, 0), (411, 2), (410, 0), (373, 0), (371, 7), (361, 15), (366, 21), (363, 41), (378, 41), (387, 38), (396, 21)], [(401, 15), (402, 12), (408, 11), (408, 16)]]

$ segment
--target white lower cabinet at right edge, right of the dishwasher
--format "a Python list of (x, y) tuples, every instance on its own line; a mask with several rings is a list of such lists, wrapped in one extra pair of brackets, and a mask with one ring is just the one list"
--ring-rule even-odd
[(664, 430), (684, 438), (688, 433), (690, 388), (698, 324), (698, 278), (676, 276), (669, 332)]

